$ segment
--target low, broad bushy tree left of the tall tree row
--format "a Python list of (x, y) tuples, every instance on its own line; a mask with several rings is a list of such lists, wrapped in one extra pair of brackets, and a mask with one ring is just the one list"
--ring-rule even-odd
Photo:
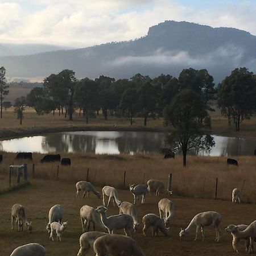
[(42, 87), (35, 87), (27, 94), (27, 105), (34, 108), (38, 115), (48, 114), (56, 108), (55, 102)]

